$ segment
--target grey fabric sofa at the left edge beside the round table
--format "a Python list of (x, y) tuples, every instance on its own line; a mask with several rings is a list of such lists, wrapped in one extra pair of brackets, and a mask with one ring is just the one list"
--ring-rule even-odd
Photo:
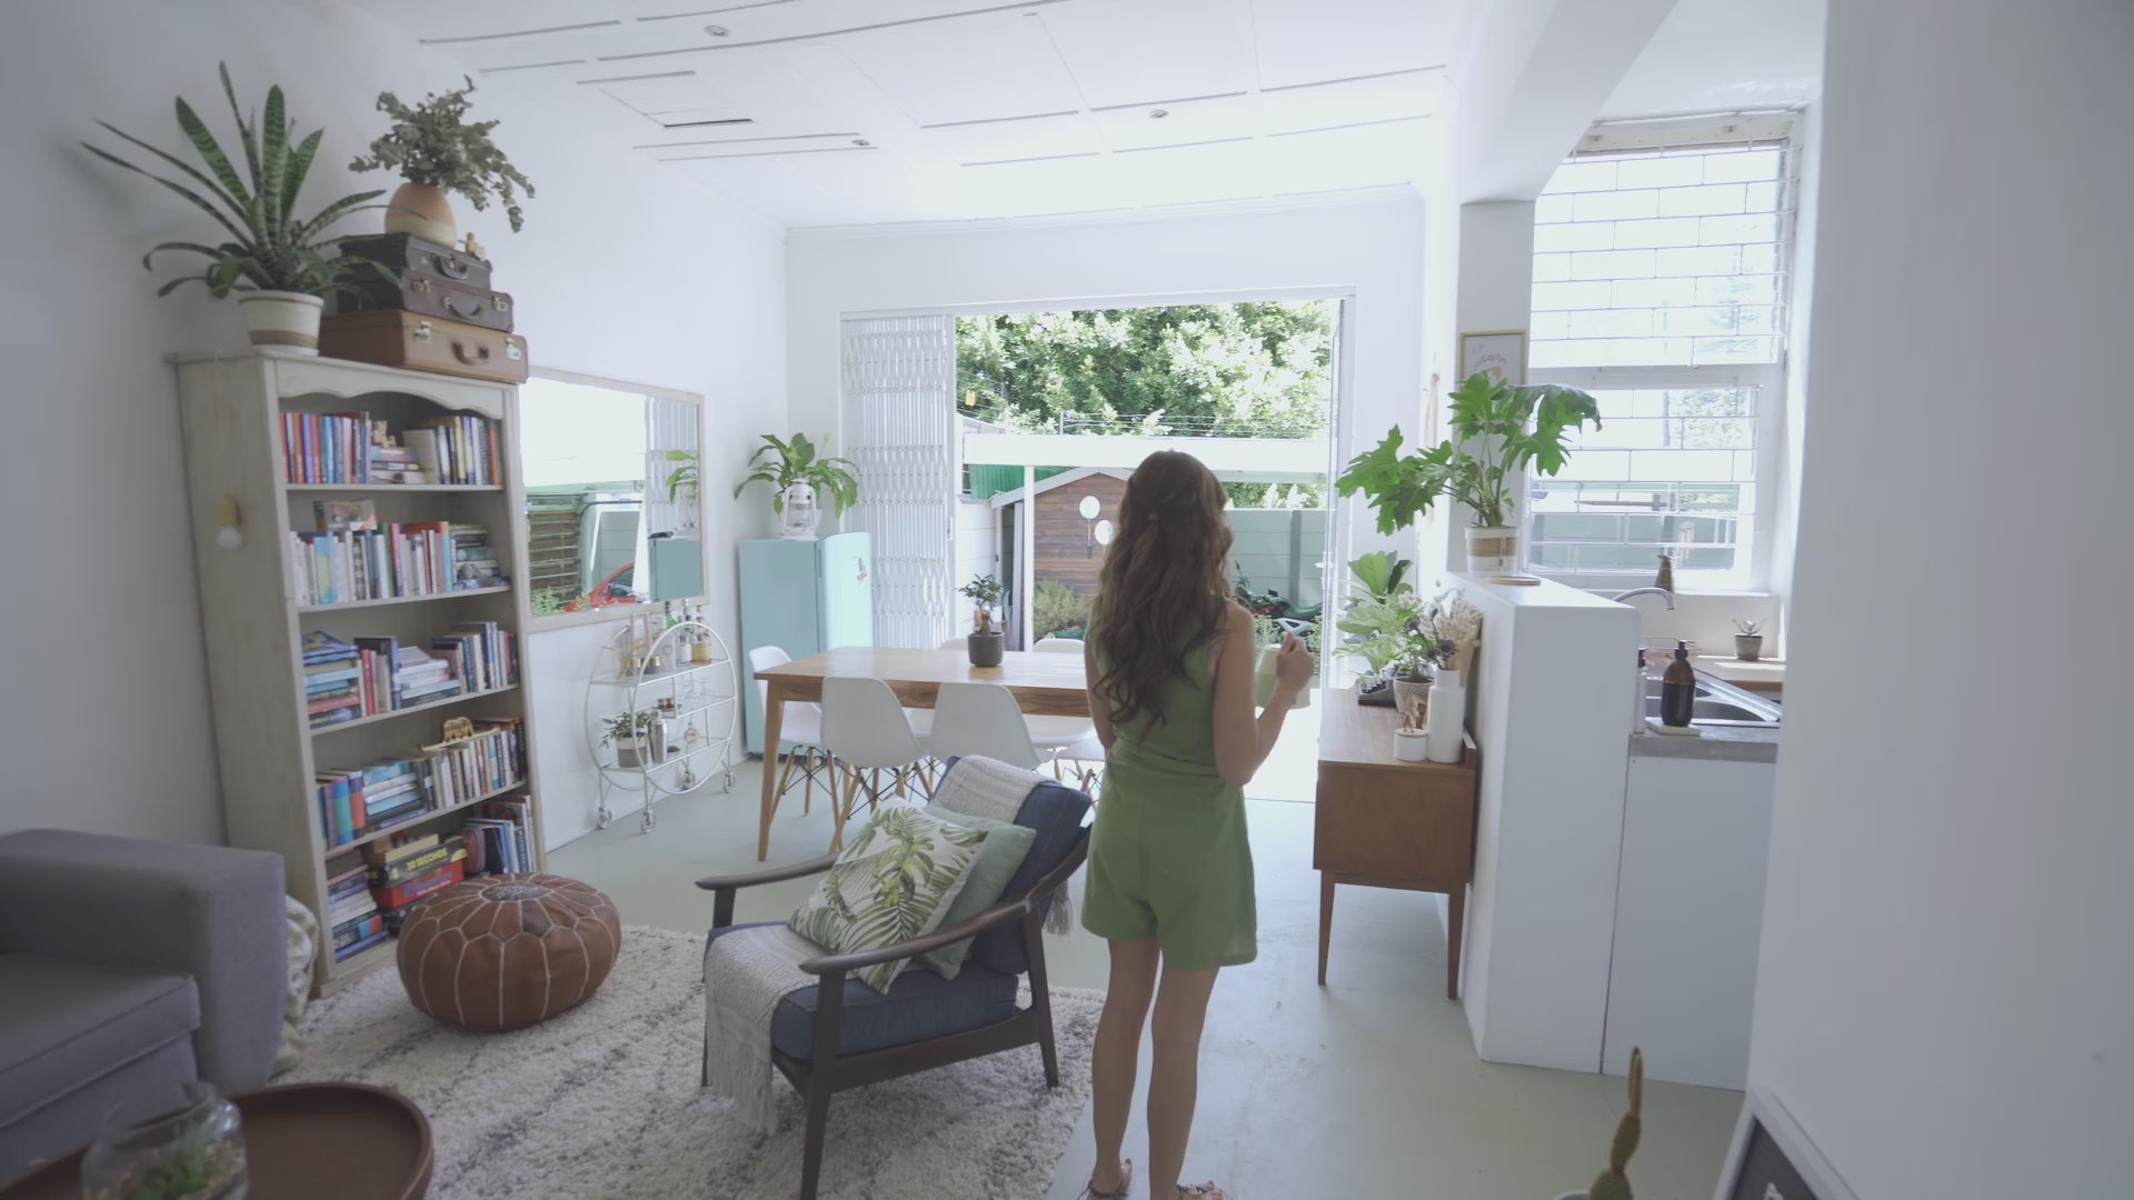
[(0, 1185), (145, 1089), (267, 1083), (282, 856), (34, 828), (0, 837)]

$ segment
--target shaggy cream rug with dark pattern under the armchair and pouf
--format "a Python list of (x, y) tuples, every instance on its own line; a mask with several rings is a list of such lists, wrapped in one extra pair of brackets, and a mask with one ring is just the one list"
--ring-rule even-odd
[[(790, 1200), (805, 1119), (783, 1076), (770, 1134), (698, 1089), (702, 959), (702, 935), (627, 927), (593, 999), (510, 1033), (431, 1021), (384, 969), (312, 1006), (303, 1057), (275, 1083), (346, 1078), (414, 1100), (437, 1147), (433, 1200)], [(1058, 1091), (1024, 1046), (841, 1093), (822, 1196), (1044, 1196), (1088, 1098), (1101, 1008), (1103, 993), (1052, 989)]]

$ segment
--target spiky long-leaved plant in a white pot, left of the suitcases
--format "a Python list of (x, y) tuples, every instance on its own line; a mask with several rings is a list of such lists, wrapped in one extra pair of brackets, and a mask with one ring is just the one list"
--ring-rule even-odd
[(354, 290), (352, 278), (369, 265), (339, 254), (341, 237), (329, 237), (327, 228), (352, 211), (363, 211), (384, 192), (356, 192), (341, 196), (318, 209), (312, 218), (297, 216), (297, 194), (303, 190), (312, 158), (324, 130), (297, 137), (297, 122), (288, 120), (282, 88), (267, 90), (267, 107), (258, 124), (245, 120), (237, 107), (237, 90), (230, 85), (228, 66), (222, 73), (222, 94), (230, 102), (237, 122), (237, 141), (243, 147), (245, 171), (239, 173), (230, 156), (222, 152), (216, 135), (207, 128), (184, 96), (177, 98), (177, 126), (186, 132), (194, 154), (207, 167), (192, 167), (175, 154), (156, 149), (147, 141), (109, 124), (111, 135), (160, 158), (177, 169), (190, 184), (169, 179), (145, 167), (128, 162), (109, 149), (81, 143), (83, 149), (145, 175), (171, 192), (177, 192), (192, 207), (216, 218), (226, 241), (213, 246), (201, 241), (162, 241), (141, 256), (141, 265), (156, 269), (154, 258), (162, 252), (198, 254), (207, 265), (192, 275), (166, 282), (156, 295), (166, 297), (179, 286), (198, 282), (207, 295), (224, 299), (237, 293), (237, 310), (245, 318), (254, 346), (280, 346), (299, 354), (318, 352), (318, 316), (324, 310), (322, 297), (335, 290)]

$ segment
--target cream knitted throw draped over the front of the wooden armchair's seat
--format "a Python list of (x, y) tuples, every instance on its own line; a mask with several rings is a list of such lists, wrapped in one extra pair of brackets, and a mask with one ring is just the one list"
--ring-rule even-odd
[(770, 1098), (770, 1014), (815, 986), (800, 963), (824, 948), (783, 925), (740, 929), (704, 950), (704, 1085), (732, 1100), (751, 1130), (777, 1123)]

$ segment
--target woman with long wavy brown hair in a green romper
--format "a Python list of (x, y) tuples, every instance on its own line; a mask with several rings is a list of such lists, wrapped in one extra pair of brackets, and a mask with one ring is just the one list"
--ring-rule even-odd
[(1216, 969), (1259, 952), (1244, 784), (1312, 675), (1285, 636), (1274, 698), (1253, 713), (1253, 615), (1227, 598), (1229, 540), (1214, 474), (1178, 451), (1148, 455), (1127, 480), (1090, 613), (1088, 709), (1105, 769), (1082, 925), (1112, 946), (1093, 1063), (1095, 1200), (1131, 1183), (1120, 1142), (1150, 1001), (1150, 1196), (1223, 1200), (1214, 1183), (1178, 1183), (1201, 1019)]

